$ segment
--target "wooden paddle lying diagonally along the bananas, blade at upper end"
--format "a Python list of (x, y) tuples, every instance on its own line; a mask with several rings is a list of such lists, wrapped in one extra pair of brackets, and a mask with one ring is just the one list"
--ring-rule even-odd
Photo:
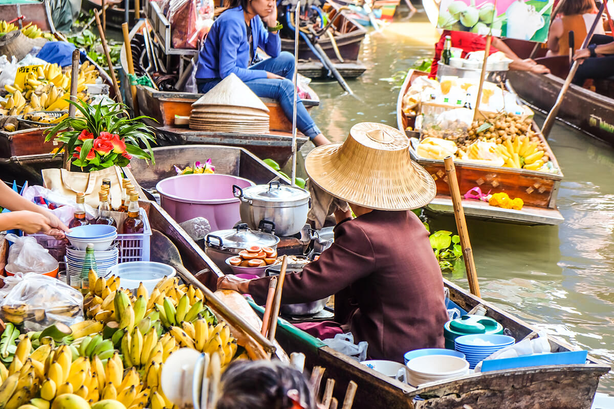
[(241, 329), (247, 335), (254, 338), (254, 340), (262, 345), (266, 351), (270, 353), (275, 352), (276, 348), (273, 343), (263, 337), (262, 334), (247, 323), (243, 317), (230, 310), (230, 308), (223, 304), (209, 288), (198, 281), (196, 277), (194, 277), (194, 275), (184, 267), (184, 263), (181, 260), (181, 254), (179, 254), (177, 247), (168, 237), (166, 237), (166, 235), (155, 229), (152, 229), (151, 258), (152, 261), (162, 262), (174, 267), (184, 281), (203, 291), (207, 304), (211, 304), (212, 307), (214, 307), (217, 312), (222, 315), (226, 321), (228, 321), (228, 323), (232, 324), (237, 329)]

